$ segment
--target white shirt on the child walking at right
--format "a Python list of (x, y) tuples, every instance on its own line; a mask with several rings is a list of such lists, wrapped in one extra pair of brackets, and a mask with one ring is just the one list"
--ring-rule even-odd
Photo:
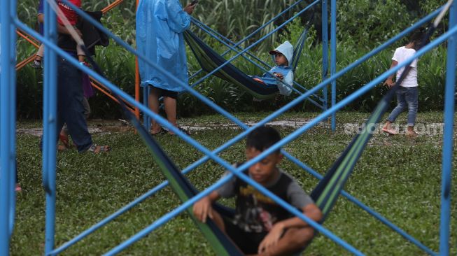
[[(409, 59), (416, 53), (416, 50), (412, 48), (406, 48), (405, 46), (397, 48), (395, 50), (395, 53), (393, 54), (392, 59), (398, 62), (398, 64), (405, 62), (405, 60)], [(409, 65), (411, 66), (411, 69), (409, 70), (409, 73), (407, 74), (406, 78), (402, 81), (402, 84), (400, 86), (402, 87), (416, 87), (418, 86), (417, 83), (417, 61), (418, 59), (414, 59), (414, 61)], [(402, 76), (403, 71), (405, 70), (405, 67), (399, 69), (397, 71), (397, 79)]]

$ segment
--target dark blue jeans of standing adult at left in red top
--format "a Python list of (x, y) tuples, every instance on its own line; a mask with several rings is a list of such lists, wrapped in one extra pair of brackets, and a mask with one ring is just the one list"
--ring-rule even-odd
[[(81, 71), (72, 66), (66, 59), (57, 57), (57, 134), (64, 123), (69, 129), (73, 143), (78, 152), (84, 152), (92, 145), (92, 136), (87, 130), (85, 122), (85, 108), (83, 95), (83, 77)], [(40, 142), (40, 148), (43, 142)]]

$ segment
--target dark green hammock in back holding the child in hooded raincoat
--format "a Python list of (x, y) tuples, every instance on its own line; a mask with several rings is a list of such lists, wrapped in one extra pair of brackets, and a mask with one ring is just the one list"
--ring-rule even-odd
[[(311, 24), (311, 22), (308, 22), (308, 24)], [(300, 59), (300, 55), (303, 50), (304, 41), (306, 41), (307, 38), (307, 32), (308, 27), (302, 31), (300, 38), (294, 46), (293, 59), (290, 64), (293, 71), (297, 68), (298, 60)], [(214, 69), (217, 69), (218, 66), (227, 62), (224, 57), (220, 56), (218, 52), (209, 47), (209, 45), (206, 45), (206, 43), (192, 33), (192, 31), (186, 30), (184, 32), (184, 38), (204, 71), (211, 72)], [(231, 63), (223, 66), (223, 68), (216, 71), (214, 75), (218, 76), (218, 78), (226, 80), (229, 83), (239, 86), (241, 89), (245, 90), (249, 94), (252, 94), (258, 99), (267, 99), (273, 97), (276, 92), (279, 92), (276, 85), (264, 85), (258, 83), (253, 80), (251, 76), (248, 76)]]

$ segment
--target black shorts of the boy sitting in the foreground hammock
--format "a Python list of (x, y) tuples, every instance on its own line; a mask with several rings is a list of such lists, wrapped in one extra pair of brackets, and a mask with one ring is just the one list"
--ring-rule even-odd
[(257, 254), (260, 243), (268, 233), (244, 232), (238, 226), (234, 225), (232, 221), (227, 220), (227, 218), (223, 219), (225, 225), (225, 233), (227, 233), (227, 235), (238, 246), (238, 248), (244, 254)]

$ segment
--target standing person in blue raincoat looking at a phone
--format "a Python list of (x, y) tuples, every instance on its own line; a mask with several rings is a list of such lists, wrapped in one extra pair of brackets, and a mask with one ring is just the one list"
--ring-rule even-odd
[[(179, 0), (140, 0), (136, 10), (138, 52), (186, 85), (188, 68), (183, 32), (190, 26), (194, 8), (195, 3), (183, 8)], [(141, 59), (138, 64), (141, 85), (152, 86), (148, 96), (151, 111), (159, 113), (159, 97), (163, 96), (167, 120), (176, 126), (176, 99), (178, 92), (185, 89)], [(150, 133), (161, 131), (162, 127), (153, 120)]]

